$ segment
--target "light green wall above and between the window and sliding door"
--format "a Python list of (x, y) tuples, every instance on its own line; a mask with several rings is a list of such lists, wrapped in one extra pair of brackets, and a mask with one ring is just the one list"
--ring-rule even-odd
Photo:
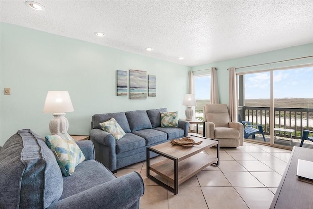
[[(251, 46), (253, 47), (253, 46)], [(232, 50), (231, 48), (229, 50)], [(237, 59), (229, 59), (221, 62), (209, 63), (201, 66), (192, 67), (192, 71), (208, 69), (211, 67), (217, 67), (217, 78), (218, 78), (218, 88), (220, 103), (229, 105), (229, 71), (230, 67), (245, 67), (251, 65), (258, 65), (264, 63), (278, 62), (282, 60), (289, 60), (299, 57), (313, 56), (313, 43), (293, 46), (285, 49), (269, 51), (266, 53), (250, 55), (246, 57), (241, 57)], [(309, 57), (306, 59), (298, 59), (287, 62), (278, 62), (275, 64), (259, 65), (256, 67), (241, 68), (236, 70), (236, 72), (247, 72), (255, 70), (267, 70), (288, 66), (304, 65), (313, 63), (313, 58)]]

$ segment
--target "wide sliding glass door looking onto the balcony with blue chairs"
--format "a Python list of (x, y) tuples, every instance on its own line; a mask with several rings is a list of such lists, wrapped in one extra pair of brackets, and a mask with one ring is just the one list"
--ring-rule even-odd
[(313, 131), (313, 66), (237, 75), (242, 120), (262, 125), (266, 142), (260, 133), (247, 140), (292, 147), (299, 146), (303, 130)]

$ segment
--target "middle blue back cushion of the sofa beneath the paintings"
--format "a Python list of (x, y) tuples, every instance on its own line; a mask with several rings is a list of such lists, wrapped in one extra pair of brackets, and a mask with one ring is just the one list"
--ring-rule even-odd
[(134, 110), (125, 112), (131, 131), (152, 128), (150, 119), (145, 110)]

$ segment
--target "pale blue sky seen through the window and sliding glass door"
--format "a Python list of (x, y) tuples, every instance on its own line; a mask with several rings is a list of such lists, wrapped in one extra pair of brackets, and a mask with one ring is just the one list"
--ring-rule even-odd
[[(194, 77), (196, 99), (210, 99), (211, 76)], [(244, 75), (245, 99), (270, 98), (270, 72)], [(313, 98), (313, 67), (274, 71), (274, 98)]]

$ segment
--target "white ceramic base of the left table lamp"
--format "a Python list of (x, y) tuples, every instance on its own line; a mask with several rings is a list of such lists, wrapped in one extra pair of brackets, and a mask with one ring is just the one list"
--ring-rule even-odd
[(51, 134), (67, 133), (68, 131), (68, 120), (65, 118), (66, 113), (54, 113), (54, 118), (50, 121), (49, 129)]

